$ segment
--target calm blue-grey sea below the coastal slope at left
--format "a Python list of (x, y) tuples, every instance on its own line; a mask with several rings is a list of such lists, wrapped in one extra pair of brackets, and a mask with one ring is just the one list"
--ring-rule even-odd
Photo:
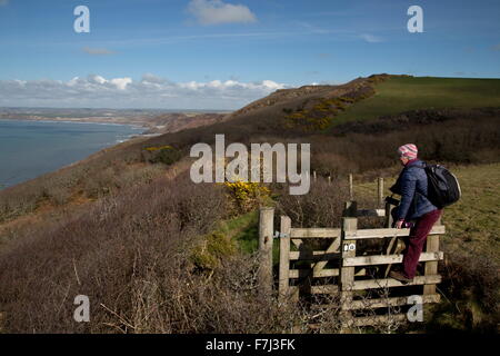
[(131, 125), (0, 120), (0, 190), (140, 135)]

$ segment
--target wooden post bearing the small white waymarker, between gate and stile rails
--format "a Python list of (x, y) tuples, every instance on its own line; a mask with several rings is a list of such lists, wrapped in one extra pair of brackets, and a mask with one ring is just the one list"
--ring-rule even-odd
[(343, 260), (348, 257), (356, 257), (356, 239), (349, 239), (346, 235), (356, 233), (358, 229), (357, 202), (347, 201), (342, 217), (342, 229), (340, 234), (340, 308), (342, 329), (344, 329), (352, 317), (349, 306), (352, 303), (352, 286), (354, 284), (354, 267), (344, 267)]

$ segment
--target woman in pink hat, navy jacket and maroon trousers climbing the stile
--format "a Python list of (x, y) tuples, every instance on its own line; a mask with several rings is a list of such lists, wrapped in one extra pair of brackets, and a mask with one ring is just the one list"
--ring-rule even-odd
[(427, 236), (441, 216), (442, 209), (438, 209), (427, 198), (427, 174), (423, 169), (424, 162), (417, 158), (417, 146), (403, 145), (398, 148), (398, 154), (404, 168), (390, 188), (392, 192), (401, 196), (401, 202), (392, 214), (398, 229), (411, 228), (410, 236), (404, 238), (402, 270), (393, 270), (389, 276), (408, 284), (413, 281)]

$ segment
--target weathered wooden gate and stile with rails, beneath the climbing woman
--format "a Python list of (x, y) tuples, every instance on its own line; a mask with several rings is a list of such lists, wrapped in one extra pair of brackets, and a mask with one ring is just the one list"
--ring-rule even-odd
[[(443, 253), (439, 251), (439, 235), (444, 234), (444, 226), (439, 221), (428, 236), (426, 250), (419, 259), (424, 264), (423, 275), (403, 285), (387, 276), (391, 265), (402, 261), (402, 255), (397, 253), (398, 238), (409, 236), (410, 230), (389, 227), (390, 209), (391, 206), (386, 205), (386, 209), (358, 210), (356, 201), (348, 201), (340, 229), (293, 228), (290, 218), (282, 216), (279, 298), (298, 300), (311, 295), (338, 296), (346, 327), (387, 322), (383, 309), (413, 304), (414, 298), (410, 299), (410, 296), (419, 297), (420, 303), (439, 301), (440, 296), (436, 293), (436, 285), (441, 281), (438, 261), (443, 258)], [(386, 217), (386, 228), (358, 229), (358, 218), (363, 216)], [(320, 249), (308, 244), (311, 239), (321, 246)], [(368, 240), (384, 241), (383, 250), (359, 254), (358, 246)], [(423, 290), (416, 291), (416, 286), (423, 286)], [(378, 293), (373, 297), (370, 290)], [(367, 309), (376, 313), (370, 316), (357, 313)], [(402, 313), (390, 317), (407, 319)]]

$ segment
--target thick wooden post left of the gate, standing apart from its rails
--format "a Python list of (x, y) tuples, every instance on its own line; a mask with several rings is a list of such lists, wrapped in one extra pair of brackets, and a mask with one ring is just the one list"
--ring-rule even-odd
[(272, 294), (272, 236), (274, 208), (261, 207), (259, 216), (259, 290), (264, 296)]

